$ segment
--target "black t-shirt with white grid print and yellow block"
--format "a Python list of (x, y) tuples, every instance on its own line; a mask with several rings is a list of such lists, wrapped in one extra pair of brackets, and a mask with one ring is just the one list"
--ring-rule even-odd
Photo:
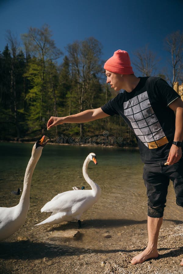
[(141, 77), (130, 93), (124, 91), (102, 108), (106, 114), (119, 114), (137, 137), (144, 163), (167, 160), (174, 140), (175, 114), (168, 107), (178, 93), (158, 77)]

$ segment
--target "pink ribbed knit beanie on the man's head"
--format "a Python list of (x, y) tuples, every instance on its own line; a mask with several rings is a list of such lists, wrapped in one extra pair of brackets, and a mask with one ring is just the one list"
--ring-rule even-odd
[(134, 74), (127, 51), (115, 51), (104, 64), (104, 69), (120, 74)]

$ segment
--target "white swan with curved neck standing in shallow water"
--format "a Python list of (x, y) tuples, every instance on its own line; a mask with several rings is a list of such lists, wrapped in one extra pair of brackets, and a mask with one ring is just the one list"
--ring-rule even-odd
[(51, 201), (47, 202), (41, 208), (41, 212), (52, 212), (52, 214), (38, 223), (42, 224), (58, 224), (65, 221), (78, 220), (81, 227), (81, 215), (95, 204), (101, 195), (101, 189), (87, 174), (88, 163), (93, 161), (97, 164), (95, 153), (90, 153), (83, 164), (83, 176), (87, 183), (91, 186), (91, 190), (70, 190), (56, 195)]

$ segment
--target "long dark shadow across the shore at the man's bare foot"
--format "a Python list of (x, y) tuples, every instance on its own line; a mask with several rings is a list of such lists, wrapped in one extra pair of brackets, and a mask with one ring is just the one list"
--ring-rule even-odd
[[(160, 248), (159, 250), (170, 250), (164, 255), (160, 255), (159, 258), (177, 257), (182, 254), (183, 247), (180, 248)], [(38, 243), (30, 241), (20, 242), (2, 242), (0, 243), (0, 259), (21, 259), (21, 260), (37, 260), (47, 258), (56, 258), (60, 256), (73, 256), (90, 253), (115, 253), (133, 251), (142, 252), (141, 249), (89, 249), (89, 248), (75, 248), (64, 244), (52, 244), (52, 243)]]

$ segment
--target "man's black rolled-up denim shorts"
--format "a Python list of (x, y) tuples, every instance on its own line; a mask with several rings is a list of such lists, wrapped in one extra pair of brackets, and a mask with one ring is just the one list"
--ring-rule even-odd
[(165, 207), (170, 180), (173, 181), (176, 203), (183, 207), (183, 158), (172, 166), (165, 162), (144, 165), (143, 179), (147, 188), (148, 206)]

